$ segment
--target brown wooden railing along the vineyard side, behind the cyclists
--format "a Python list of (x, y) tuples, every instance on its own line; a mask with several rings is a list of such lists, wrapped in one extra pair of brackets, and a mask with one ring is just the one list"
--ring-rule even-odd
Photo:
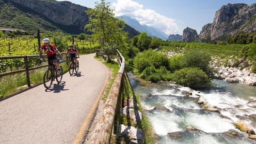
[[(63, 54), (66, 54), (66, 53), (61, 53), (61, 54), (63, 55)], [(46, 55), (43, 55), (43, 56), (46, 56)], [(47, 64), (47, 65), (42, 65), (42, 66), (37, 66), (37, 67), (29, 68), (28, 58), (38, 58), (38, 60), (39, 60), (39, 55), (0, 57), (0, 60), (1, 60), (1, 59), (16, 59), (16, 58), (24, 58), (24, 66), (25, 66), (25, 69), (16, 70), (16, 71), (11, 71), (11, 72), (0, 73), (0, 77), (6, 76), (6, 75), (15, 74), (15, 73), (20, 73), (20, 72), (26, 72), (27, 85), (28, 85), (28, 87), (31, 87), (30, 75), (29, 75), (30, 72), (29, 72), (29, 71), (36, 70), (36, 69), (39, 69), (39, 68), (43, 68), (43, 67), (47, 67), (47, 66), (48, 66), (48, 64)], [(66, 61), (66, 59), (63, 60), (63, 62), (64, 62), (64, 61)]]

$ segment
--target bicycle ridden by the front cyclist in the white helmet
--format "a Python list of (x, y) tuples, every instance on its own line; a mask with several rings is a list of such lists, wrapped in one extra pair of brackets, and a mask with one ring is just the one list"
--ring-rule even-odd
[[(57, 61), (59, 62), (59, 60), (60, 59), (58, 58)], [(44, 59), (44, 61), (46, 60)], [(44, 73), (43, 82), (44, 82), (45, 88), (47, 89), (50, 88), (50, 86), (52, 85), (52, 82), (55, 79), (58, 83), (60, 83), (63, 76), (62, 66), (60, 66), (61, 72), (58, 72), (57, 67), (53, 64), (53, 61), (56, 61), (56, 60), (49, 60), (48, 69)]]

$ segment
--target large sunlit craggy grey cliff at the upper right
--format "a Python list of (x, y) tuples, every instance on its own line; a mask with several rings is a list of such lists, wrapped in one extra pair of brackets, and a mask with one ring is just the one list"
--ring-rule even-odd
[(216, 13), (212, 24), (203, 27), (200, 39), (226, 40), (241, 32), (256, 31), (256, 4), (227, 4)]

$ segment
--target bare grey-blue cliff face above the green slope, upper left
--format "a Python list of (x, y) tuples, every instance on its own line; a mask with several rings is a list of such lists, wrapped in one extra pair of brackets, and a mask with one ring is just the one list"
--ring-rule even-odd
[(53, 23), (64, 26), (76, 26), (83, 29), (88, 23), (89, 16), (85, 14), (87, 7), (80, 6), (69, 1), (56, 0), (4, 0), (23, 8), (32, 10), (46, 17)]

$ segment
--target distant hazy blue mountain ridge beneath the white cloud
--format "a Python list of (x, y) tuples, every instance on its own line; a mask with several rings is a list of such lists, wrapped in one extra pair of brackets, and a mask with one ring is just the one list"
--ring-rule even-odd
[(117, 16), (117, 17), (119, 19), (123, 20), (127, 25), (129, 25), (133, 29), (136, 29), (139, 32), (146, 32), (147, 35), (152, 36), (152, 37), (156, 36), (162, 40), (168, 39), (168, 35), (165, 34), (164, 32), (162, 32), (160, 29), (156, 29), (156, 28), (149, 27), (146, 25), (141, 25), (139, 23), (139, 21), (137, 21), (136, 19), (133, 19), (127, 15)]

